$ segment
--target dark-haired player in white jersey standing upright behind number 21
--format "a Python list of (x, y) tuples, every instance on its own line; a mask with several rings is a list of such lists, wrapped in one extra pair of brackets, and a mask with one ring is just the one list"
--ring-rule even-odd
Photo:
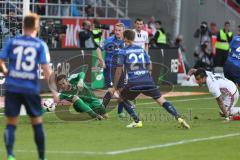
[(134, 44), (142, 47), (147, 53), (149, 51), (148, 48), (148, 33), (147, 31), (143, 30), (143, 20), (140, 18), (137, 18), (134, 22), (134, 29), (135, 32), (135, 38), (134, 38)]

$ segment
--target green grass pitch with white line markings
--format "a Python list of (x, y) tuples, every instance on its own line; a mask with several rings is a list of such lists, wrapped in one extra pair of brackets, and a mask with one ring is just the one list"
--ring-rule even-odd
[[(238, 160), (240, 121), (224, 123), (210, 95), (168, 98), (191, 125), (180, 128), (167, 112), (138, 100), (143, 128), (128, 129), (131, 121), (119, 119), (116, 110), (106, 121), (67, 122), (55, 114), (44, 115), (48, 160)], [(238, 105), (239, 106), (239, 103)], [(4, 118), (0, 117), (1, 139)], [(32, 128), (21, 117), (16, 131), (17, 160), (37, 159)], [(3, 139), (0, 159), (6, 159)]]

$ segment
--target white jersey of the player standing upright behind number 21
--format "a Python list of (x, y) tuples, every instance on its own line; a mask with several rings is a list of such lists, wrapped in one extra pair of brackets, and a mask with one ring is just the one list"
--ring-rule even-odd
[(141, 30), (141, 32), (137, 32), (136, 29), (133, 29), (133, 31), (135, 32), (135, 39), (133, 43), (146, 50), (145, 44), (148, 43), (148, 33), (144, 30)]

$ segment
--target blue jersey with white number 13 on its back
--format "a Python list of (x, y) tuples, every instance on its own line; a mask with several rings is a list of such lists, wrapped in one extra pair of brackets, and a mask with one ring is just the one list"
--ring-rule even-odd
[(5, 82), (8, 91), (39, 93), (39, 64), (50, 62), (49, 50), (45, 42), (30, 36), (10, 39), (0, 58), (9, 60), (9, 73)]

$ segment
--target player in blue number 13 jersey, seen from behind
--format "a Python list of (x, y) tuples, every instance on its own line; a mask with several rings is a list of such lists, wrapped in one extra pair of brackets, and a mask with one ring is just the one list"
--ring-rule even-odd
[[(0, 54), (0, 69), (6, 76), (5, 116), (7, 120), (4, 140), (8, 160), (15, 160), (13, 145), (21, 105), (25, 106), (30, 116), (39, 160), (45, 159), (45, 133), (41, 117), (38, 69), (40, 65), (46, 80), (49, 79), (52, 70), (49, 66), (48, 47), (45, 42), (36, 38), (38, 30), (39, 16), (33, 13), (26, 15), (23, 20), (24, 35), (10, 39)], [(9, 61), (8, 67), (3, 60)], [(54, 93), (53, 96), (57, 97)]]

